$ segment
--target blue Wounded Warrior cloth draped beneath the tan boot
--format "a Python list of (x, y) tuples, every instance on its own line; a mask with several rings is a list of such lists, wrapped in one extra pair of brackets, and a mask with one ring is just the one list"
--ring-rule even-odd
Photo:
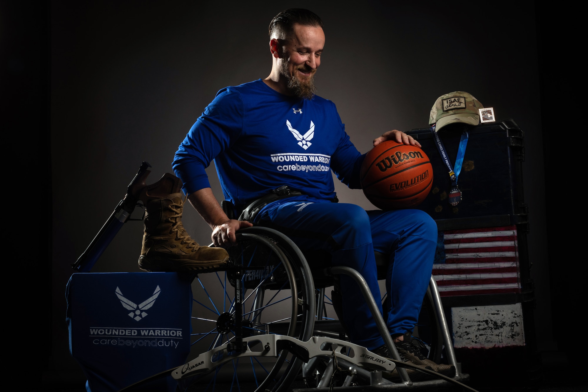
[[(192, 289), (187, 274), (73, 274), (66, 288), (69, 351), (88, 392), (118, 391), (185, 363)], [(140, 390), (175, 391), (171, 377)], [(138, 389), (139, 390), (139, 389)]]

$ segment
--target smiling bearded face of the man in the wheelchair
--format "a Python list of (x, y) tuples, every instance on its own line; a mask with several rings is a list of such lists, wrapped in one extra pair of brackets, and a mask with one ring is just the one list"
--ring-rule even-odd
[(311, 99), (316, 91), (313, 77), (325, 46), (323, 29), (294, 24), (288, 37), (279, 42), (282, 45), (280, 74), (288, 80), (288, 89), (296, 97)]

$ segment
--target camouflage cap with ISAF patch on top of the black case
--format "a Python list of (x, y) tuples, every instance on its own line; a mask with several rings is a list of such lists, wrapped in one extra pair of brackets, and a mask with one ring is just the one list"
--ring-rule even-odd
[(437, 98), (431, 108), (429, 125), (437, 123), (436, 131), (453, 122), (465, 122), (466, 124), (480, 124), (478, 109), (483, 105), (472, 94), (465, 91), (453, 91)]

